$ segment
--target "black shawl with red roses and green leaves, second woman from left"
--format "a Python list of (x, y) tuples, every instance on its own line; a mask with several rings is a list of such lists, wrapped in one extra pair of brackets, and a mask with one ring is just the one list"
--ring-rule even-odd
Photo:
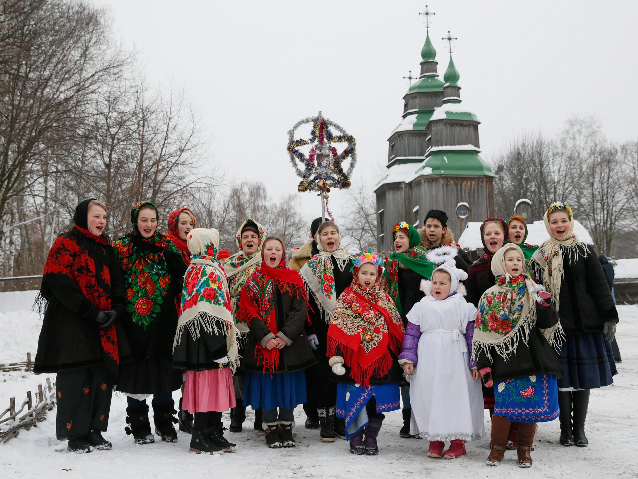
[[(131, 232), (113, 243), (126, 284), (127, 309), (133, 322), (146, 329), (158, 316), (170, 286), (164, 251), (179, 254), (168, 238), (157, 230), (151, 238), (143, 238), (137, 229), (137, 217), (144, 206), (157, 208), (150, 201), (141, 201), (131, 209)], [(159, 215), (158, 215), (159, 220)]]

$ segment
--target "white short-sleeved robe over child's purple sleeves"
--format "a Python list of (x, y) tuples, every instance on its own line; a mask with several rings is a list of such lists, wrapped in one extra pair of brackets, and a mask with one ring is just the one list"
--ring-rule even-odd
[(467, 349), (465, 328), (474, 327), (476, 312), (457, 293), (445, 300), (425, 296), (408, 313), (408, 321), (421, 330), (410, 381), (410, 434), (429, 441), (473, 441), (485, 436), (480, 379), (472, 378), (470, 354), (462, 352)]

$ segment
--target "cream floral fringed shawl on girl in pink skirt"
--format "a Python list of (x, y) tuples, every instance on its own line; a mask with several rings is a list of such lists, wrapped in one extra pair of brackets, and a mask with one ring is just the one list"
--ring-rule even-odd
[(182, 314), (177, 323), (173, 348), (179, 344), (184, 329), (193, 340), (200, 330), (226, 335), (228, 359), (235, 370), (239, 361), (235, 322), (230, 313), (230, 294), (226, 273), (217, 259), (219, 232), (216, 229), (195, 228), (189, 231), (188, 249), (193, 254), (191, 265), (184, 275)]

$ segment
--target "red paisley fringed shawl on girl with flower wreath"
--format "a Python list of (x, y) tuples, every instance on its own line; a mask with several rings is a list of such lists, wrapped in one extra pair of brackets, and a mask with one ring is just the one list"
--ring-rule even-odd
[(401, 316), (385, 290), (378, 284), (362, 288), (355, 278), (334, 307), (327, 355), (340, 352), (350, 377), (369, 386), (372, 376), (383, 377), (392, 367), (390, 351), (399, 356), (404, 332)]

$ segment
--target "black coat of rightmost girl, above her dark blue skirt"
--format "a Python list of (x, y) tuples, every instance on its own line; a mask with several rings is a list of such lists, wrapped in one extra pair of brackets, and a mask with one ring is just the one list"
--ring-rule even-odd
[[(563, 254), (563, 279), (560, 286), (558, 317), (563, 331), (567, 334), (602, 331), (605, 321), (618, 322), (618, 312), (611, 296), (605, 272), (600, 266), (598, 255), (591, 245), (587, 257), (578, 255), (574, 262)], [(561, 247), (562, 248), (562, 247)], [(543, 270), (532, 259), (540, 283)]]

